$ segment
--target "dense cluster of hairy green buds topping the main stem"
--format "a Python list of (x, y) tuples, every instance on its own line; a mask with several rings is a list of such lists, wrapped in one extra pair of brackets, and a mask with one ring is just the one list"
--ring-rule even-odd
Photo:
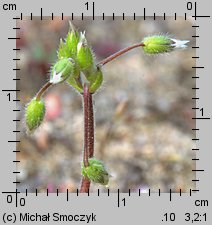
[(65, 41), (60, 40), (58, 61), (52, 67), (50, 82), (56, 84), (67, 81), (80, 93), (86, 83), (89, 91), (94, 93), (102, 84), (102, 72), (95, 64), (95, 55), (88, 45), (85, 32), (79, 33), (72, 24), (70, 26)]

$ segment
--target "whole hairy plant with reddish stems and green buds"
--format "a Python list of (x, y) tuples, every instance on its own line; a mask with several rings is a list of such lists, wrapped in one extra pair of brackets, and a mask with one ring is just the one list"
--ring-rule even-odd
[(49, 82), (27, 105), (25, 118), (29, 132), (41, 125), (45, 116), (45, 103), (42, 96), (52, 85), (66, 82), (81, 94), (84, 105), (84, 149), (80, 192), (88, 192), (91, 181), (108, 185), (110, 177), (104, 163), (94, 157), (95, 126), (92, 98), (102, 85), (102, 67), (134, 48), (142, 48), (146, 54), (163, 54), (172, 52), (177, 48), (185, 48), (188, 42), (172, 39), (167, 35), (148, 36), (140, 43), (120, 50), (96, 63), (95, 54), (86, 40), (85, 32), (78, 32), (70, 23), (70, 31), (66, 39), (60, 40), (57, 61), (51, 67)]

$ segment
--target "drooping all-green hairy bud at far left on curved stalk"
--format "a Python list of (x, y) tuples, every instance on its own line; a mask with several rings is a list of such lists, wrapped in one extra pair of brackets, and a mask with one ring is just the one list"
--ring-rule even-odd
[(26, 108), (26, 126), (33, 131), (40, 126), (45, 116), (45, 103), (43, 100), (33, 98)]

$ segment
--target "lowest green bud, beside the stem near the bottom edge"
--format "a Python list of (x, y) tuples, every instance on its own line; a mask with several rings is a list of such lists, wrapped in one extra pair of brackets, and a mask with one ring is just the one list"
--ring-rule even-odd
[(108, 185), (109, 182), (109, 174), (106, 171), (104, 164), (95, 158), (89, 159), (89, 166), (87, 167), (82, 164), (82, 175), (89, 180), (102, 185)]

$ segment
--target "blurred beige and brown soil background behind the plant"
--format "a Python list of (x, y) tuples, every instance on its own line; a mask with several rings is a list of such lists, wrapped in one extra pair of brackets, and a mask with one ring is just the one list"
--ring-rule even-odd
[[(49, 79), (49, 68), (56, 60), (60, 38), (68, 32), (69, 17), (24, 17), (17, 26), (18, 89), (21, 89), (17, 129), (21, 142), (17, 145), (19, 191), (76, 192), (81, 180), (83, 148), (83, 114), (81, 96), (67, 84), (49, 89), (45, 122), (34, 134), (27, 135), (24, 109)], [(73, 24), (86, 37), (97, 55), (96, 61), (140, 42), (151, 34), (169, 34), (190, 40), (185, 50), (149, 56), (135, 49), (103, 68), (104, 84), (95, 100), (95, 155), (103, 160), (111, 174), (109, 188), (116, 192), (151, 191), (179, 192), (194, 188), (195, 157), (192, 152), (195, 133), (195, 96), (192, 76), (195, 71), (195, 46), (192, 19), (106, 17), (74, 18)], [(91, 191), (106, 187), (92, 184)]]

